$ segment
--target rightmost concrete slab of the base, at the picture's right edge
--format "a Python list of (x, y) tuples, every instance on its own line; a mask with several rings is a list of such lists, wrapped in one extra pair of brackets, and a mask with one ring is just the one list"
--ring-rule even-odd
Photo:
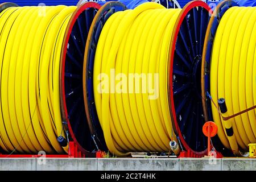
[(222, 159), (222, 171), (256, 171), (256, 159)]

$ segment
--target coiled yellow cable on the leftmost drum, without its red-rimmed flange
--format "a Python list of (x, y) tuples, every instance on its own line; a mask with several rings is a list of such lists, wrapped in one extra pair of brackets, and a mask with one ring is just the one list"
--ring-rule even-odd
[(6, 152), (67, 152), (59, 72), (76, 6), (10, 7), (0, 14), (0, 146)]

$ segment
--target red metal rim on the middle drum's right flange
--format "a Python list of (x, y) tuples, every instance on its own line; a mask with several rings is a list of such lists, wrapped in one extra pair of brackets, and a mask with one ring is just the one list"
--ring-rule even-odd
[(168, 85), (168, 88), (169, 88), (169, 105), (170, 105), (170, 109), (171, 109), (171, 116), (172, 116), (172, 122), (174, 123), (174, 126), (175, 126), (175, 130), (176, 130), (176, 134), (179, 135), (179, 138), (180, 138), (180, 141), (181, 143), (183, 144), (185, 150), (187, 151), (192, 151), (194, 154), (198, 155), (198, 156), (203, 156), (205, 154), (207, 154), (207, 150), (205, 151), (201, 151), (201, 152), (197, 152), (197, 151), (194, 151), (192, 150), (187, 142), (185, 142), (185, 139), (183, 138), (183, 135), (181, 134), (181, 131), (180, 131), (180, 127), (177, 123), (177, 118), (176, 118), (176, 111), (175, 111), (175, 105), (174, 105), (174, 92), (173, 92), (173, 88), (172, 88), (172, 74), (173, 74), (173, 67), (172, 65), (174, 64), (174, 52), (175, 52), (175, 48), (176, 48), (176, 41), (177, 41), (177, 36), (179, 34), (179, 31), (180, 31), (180, 27), (181, 27), (181, 24), (183, 23), (183, 20), (185, 18), (185, 16), (189, 13), (190, 10), (192, 10), (193, 8), (195, 7), (203, 7), (204, 9), (206, 9), (207, 11), (209, 11), (209, 13), (212, 13), (212, 10), (210, 9), (210, 7), (207, 5), (207, 3), (204, 3), (203, 1), (192, 1), (192, 2), (189, 2), (184, 8), (183, 10), (181, 11), (179, 17), (177, 18), (177, 21), (175, 23), (175, 33), (172, 35), (172, 39), (171, 39), (171, 44), (170, 44), (170, 72), (169, 72), (169, 85)]

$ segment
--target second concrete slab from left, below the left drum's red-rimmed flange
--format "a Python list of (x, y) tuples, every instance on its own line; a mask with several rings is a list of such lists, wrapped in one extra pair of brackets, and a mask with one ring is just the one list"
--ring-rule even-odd
[(39, 158), (37, 171), (97, 171), (97, 159)]

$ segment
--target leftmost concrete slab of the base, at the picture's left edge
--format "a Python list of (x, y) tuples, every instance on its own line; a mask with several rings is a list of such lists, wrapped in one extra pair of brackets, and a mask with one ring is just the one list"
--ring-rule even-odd
[(1, 158), (0, 171), (35, 171), (36, 159), (34, 158)]

